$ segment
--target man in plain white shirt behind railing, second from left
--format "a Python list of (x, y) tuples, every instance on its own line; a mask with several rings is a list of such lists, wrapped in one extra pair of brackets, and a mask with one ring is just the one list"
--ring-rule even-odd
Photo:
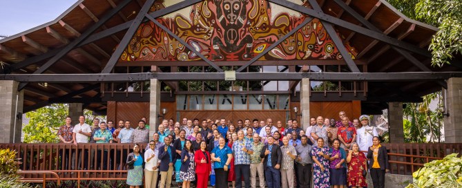
[[(76, 124), (73, 129), (74, 145), (77, 146), (77, 143), (88, 143), (88, 138), (90, 138), (90, 136), (91, 136), (90, 125), (85, 123), (85, 116), (80, 115), (79, 124)], [(77, 158), (81, 158), (80, 154), (81, 154), (81, 150), (79, 149)], [(81, 161), (79, 160), (79, 164), (77, 164), (77, 167), (79, 167), (80, 164), (81, 164)], [(88, 150), (85, 150), (84, 152), (84, 165), (88, 165)], [(86, 166), (85, 168), (90, 169), (88, 166)], [(82, 167), (81, 169), (84, 169), (84, 168)]]

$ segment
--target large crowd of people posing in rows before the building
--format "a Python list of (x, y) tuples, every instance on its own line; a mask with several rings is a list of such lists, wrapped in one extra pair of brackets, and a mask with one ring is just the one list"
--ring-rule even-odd
[[(143, 178), (146, 187), (162, 188), (173, 180), (185, 188), (207, 187), (209, 180), (218, 188), (242, 187), (242, 180), (244, 187), (311, 187), (311, 178), (314, 187), (367, 187), (367, 173), (374, 187), (384, 187), (388, 155), (376, 128), (369, 125), (367, 115), (353, 122), (345, 112), (339, 115), (337, 122), (311, 118), (306, 131), (297, 120), (288, 120), (286, 126), (280, 121), (274, 126), (271, 118), (252, 124), (249, 119), (238, 120), (237, 125), (224, 118), (202, 122), (183, 118), (182, 124), (163, 120), (151, 141), (146, 120), (140, 120), (137, 129), (121, 120), (112, 134), (101, 126), (104, 122), (96, 131), (80, 123), (71, 131), (70, 141), (77, 144), (82, 141), (77, 141), (79, 136), (87, 136), (95, 142), (135, 143), (133, 153), (126, 156), (131, 187), (142, 185)], [(61, 136), (61, 128), (59, 138), (64, 142), (69, 137)], [(147, 142), (146, 149), (140, 148), (138, 143)]]

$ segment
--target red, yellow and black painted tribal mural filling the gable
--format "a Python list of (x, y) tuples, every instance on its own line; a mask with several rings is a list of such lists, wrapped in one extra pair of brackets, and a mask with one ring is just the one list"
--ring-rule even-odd
[[(308, 3), (304, 5), (310, 7)], [(164, 1), (156, 1), (151, 11), (165, 6)], [(305, 15), (264, 0), (205, 0), (157, 21), (208, 59), (233, 61), (262, 53), (305, 19)], [(354, 58), (354, 48), (345, 46)], [(342, 59), (342, 56), (323, 24), (313, 19), (260, 58), (269, 59)], [(200, 57), (148, 21), (139, 26), (120, 60), (191, 61)]]

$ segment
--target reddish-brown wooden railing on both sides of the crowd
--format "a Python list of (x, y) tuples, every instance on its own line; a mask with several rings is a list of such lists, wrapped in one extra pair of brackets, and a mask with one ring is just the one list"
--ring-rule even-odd
[[(461, 153), (462, 144), (383, 144), (389, 150), (390, 172), (412, 175), (425, 162), (441, 159), (450, 153)], [(142, 151), (146, 144), (140, 144)], [(22, 158), (19, 168), (24, 171), (52, 171), (61, 180), (124, 180), (126, 155), (133, 144), (0, 144), (0, 149), (15, 149)], [(107, 160), (104, 169), (104, 155)], [(86, 153), (88, 160), (85, 160)], [(70, 157), (68, 157), (70, 156)], [(40, 174), (23, 174), (30, 180)], [(50, 174), (47, 180), (56, 180)]]

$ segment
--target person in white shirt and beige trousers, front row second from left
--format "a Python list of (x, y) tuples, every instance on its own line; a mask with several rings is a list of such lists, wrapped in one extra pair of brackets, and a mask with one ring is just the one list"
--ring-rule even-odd
[[(157, 187), (157, 177), (159, 176), (160, 160), (157, 159), (159, 151), (155, 149), (155, 142), (149, 142), (149, 149), (144, 152), (144, 180), (146, 188)], [(157, 143), (159, 144), (159, 143)]]

